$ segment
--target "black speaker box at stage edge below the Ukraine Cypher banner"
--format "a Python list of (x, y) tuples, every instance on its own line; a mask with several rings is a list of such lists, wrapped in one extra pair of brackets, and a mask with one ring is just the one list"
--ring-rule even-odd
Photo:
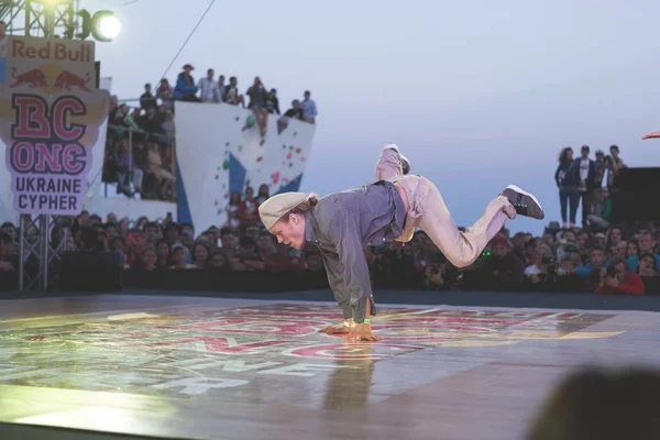
[(123, 255), (119, 252), (67, 251), (62, 254), (59, 288), (118, 292), (122, 289)]

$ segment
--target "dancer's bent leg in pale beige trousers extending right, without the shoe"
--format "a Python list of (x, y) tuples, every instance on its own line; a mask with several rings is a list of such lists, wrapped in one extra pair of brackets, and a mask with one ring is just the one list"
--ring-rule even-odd
[(419, 227), (457, 267), (474, 263), (506, 220), (515, 217), (516, 212), (507, 198), (499, 196), (488, 204), (484, 215), (471, 228), (461, 232), (432, 183), (420, 177), (417, 191), (419, 208), (424, 210)]

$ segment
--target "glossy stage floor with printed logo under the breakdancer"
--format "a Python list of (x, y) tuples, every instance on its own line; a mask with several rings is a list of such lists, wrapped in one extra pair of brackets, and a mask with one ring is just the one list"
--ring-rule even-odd
[(660, 362), (656, 312), (380, 305), (385, 340), (351, 344), (317, 332), (338, 311), (4, 300), (0, 421), (140, 438), (512, 440), (572, 369)]

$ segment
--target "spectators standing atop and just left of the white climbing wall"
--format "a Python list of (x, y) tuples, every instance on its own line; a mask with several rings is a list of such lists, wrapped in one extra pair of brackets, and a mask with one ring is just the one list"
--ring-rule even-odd
[(254, 113), (262, 136), (267, 130), (268, 114), (277, 114), (278, 132), (292, 119), (316, 123), (317, 107), (309, 90), (304, 99), (294, 99), (284, 114), (279, 110), (277, 90), (266, 90), (261, 78), (254, 78), (245, 91), (239, 91), (235, 77), (224, 84), (224, 76), (215, 78), (215, 70), (195, 81), (194, 67), (186, 64), (177, 76), (175, 87), (163, 78), (158, 88), (144, 85), (138, 107), (120, 103), (117, 96), (110, 101), (108, 135), (103, 160), (102, 182), (116, 184), (116, 194), (146, 200), (176, 200), (176, 144), (174, 112), (176, 101), (216, 102), (248, 107)]

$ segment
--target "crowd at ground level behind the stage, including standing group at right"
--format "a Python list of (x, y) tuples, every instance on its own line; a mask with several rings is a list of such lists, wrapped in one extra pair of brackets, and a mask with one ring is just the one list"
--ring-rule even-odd
[[(157, 144), (154, 145), (157, 148)], [(582, 200), (586, 199), (592, 204), (587, 206), (596, 210), (583, 216), (581, 227), (552, 221), (539, 237), (525, 232), (512, 237), (503, 229), (474, 264), (462, 268), (450, 264), (426, 233), (418, 231), (410, 243), (393, 242), (365, 250), (374, 287), (660, 294), (660, 229), (652, 223), (610, 224), (616, 206), (612, 205), (609, 194), (617, 190), (617, 169), (625, 165), (618, 154), (609, 158), (597, 154), (592, 167), (584, 154), (587, 148), (582, 148), (583, 158), (576, 160), (576, 165), (575, 161), (565, 161), (564, 150), (556, 175), (562, 204), (571, 179), (576, 182), (578, 191), (581, 187), (587, 188), (582, 191), (587, 194), (586, 197), (581, 195)], [(618, 153), (618, 147), (613, 146), (610, 151)], [(582, 169), (583, 161), (587, 162), (586, 173)], [(564, 163), (569, 166), (562, 168)], [(578, 172), (571, 170), (571, 166)], [(593, 180), (588, 182), (592, 175)], [(586, 185), (583, 176), (587, 176)], [(68, 250), (121, 252), (129, 273), (197, 270), (223, 271), (228, 276), (231, 273), (290, 273), (295, 277), (307, 273), (315, 274), (317, 280), (319, 276), (324, 278), (318, 251), (311, 248), (300, 252), (277, 244), (263, 229), (257, 208), (268, 197), (264, 186), (256, 194), (251, 187), (244, 195), (232, 194), (226, 208), (227, 222), (205, 231), (196, 231), (188, 223), (177, 224), (172, 218), (142, 217), (131, 221), (113, 215), (101, 219), (84, 212), (76, 219), (59, 219), (52, 233), (52, 245), (68, 237)], [(18, 237), (13, 224), (1, 227), (0, 273), (6, 275), (15, 273)], [(222, 286), (217, 288), (222, 289)]]

